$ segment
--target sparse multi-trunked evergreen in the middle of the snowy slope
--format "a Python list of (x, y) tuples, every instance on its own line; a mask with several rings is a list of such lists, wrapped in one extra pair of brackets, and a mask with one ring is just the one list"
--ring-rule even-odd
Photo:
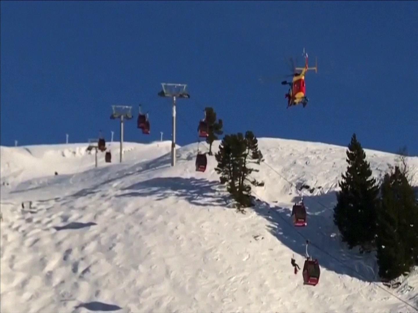
[(239, 204), (244, 207), (250, 206), (251, 186), (247, 182), (254, 186), (264, 185), (264, 182), (248, 179), (252, 172), (258, 172), (258, 169), (249, 167), (249, 164), (260, 164), (263, 158), (252, 131), (247, 131), (245, 137), (242, 133), (224, 136), (215, 158), (218, 162), (215, 171), (221, 174), (221, 183), (227, 183), (228, 192)]

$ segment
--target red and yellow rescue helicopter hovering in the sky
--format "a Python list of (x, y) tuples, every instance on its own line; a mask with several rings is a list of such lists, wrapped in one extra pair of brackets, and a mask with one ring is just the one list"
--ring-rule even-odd
[[(303, 48), (303, 57), (305, 58), (305, 67), (293, 67), (293, 78), (291, 82), (282, 81), (282, 85), (289, 85), (289, 91), (285, 94), (285, 98), (288, 99), (288, 106), (296, 106), (302, 103), (303, 107), (308, 104), (308, 98), (306, 97), (306, 85), (305, 75), (308, 70), (315, 70), (318, 73), (318, 62), (315, 60), (315, 67), (308, 67), (308, 53)], [(292, 61), (293, 63), (293, 61)], [(293, 65), (293, 64), (292, 64)], [(301, 72), (297, 72), (301, 71)]]

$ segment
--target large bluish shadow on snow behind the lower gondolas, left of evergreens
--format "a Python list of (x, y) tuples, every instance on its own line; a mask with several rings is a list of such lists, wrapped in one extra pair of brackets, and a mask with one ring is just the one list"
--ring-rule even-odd
[[(300, 197), (295, 197), (292, 201), (299, 200)], [(308, 239), (311, 242), (308, 245), (308, 254), (313, 259), (318, 259), (322, 268), (366, 282), (380, 281), (375, 252), (360, 254), (358, 248), (349, 250), (341, 241), (338, 227), (333, 221), (336, 192), (304, 196), (303, 202), (307, 212), (305, 227), (293, 226), (291, 219), (293, 204), (291, 207), (278, 207), (257, 200), (254, 210), (268, 220), (268, 230), (271, 234), (293, 250), (295, 256), (296, 253), (301, 255), (296, 257), (296, 263), (302, 264), (301, 266)]]

